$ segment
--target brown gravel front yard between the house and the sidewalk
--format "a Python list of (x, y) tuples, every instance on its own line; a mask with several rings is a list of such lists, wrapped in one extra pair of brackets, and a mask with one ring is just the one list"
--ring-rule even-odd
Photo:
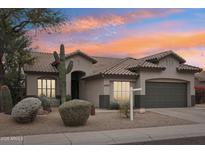
[(118, 112), (97, 112), (90, 116), (85, 126), (65, 127), (58, 109), (52, 109), (47, 115), (38, 115), (34, 122), (18, 124), (11, 116), (0, 113), (0, 136), (37, 135), (63, 132), (100, 131), (169, 125), (186, 125), (194, 122), (147, 111), (135, 113), (134, 121), (121, 118)]

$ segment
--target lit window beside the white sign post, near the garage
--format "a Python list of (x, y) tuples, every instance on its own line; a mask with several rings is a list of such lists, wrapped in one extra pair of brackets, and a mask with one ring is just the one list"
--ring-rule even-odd
[(114, 100), (118, 103), (128, 103), (130, 97), (130, 82), (114, 82)]

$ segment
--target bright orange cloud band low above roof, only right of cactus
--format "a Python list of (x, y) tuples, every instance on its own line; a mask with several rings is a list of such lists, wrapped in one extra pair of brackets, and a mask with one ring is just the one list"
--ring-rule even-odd
[(97, 54), (126, 52), (131, 56), (145, 55), (156, 50), (179, 50), (205, 46), (205, 32), (196, 33), (156, 33), (152, 36), (127, 36), (108, 43), (68, 44), (69, 50), (80, 48)]

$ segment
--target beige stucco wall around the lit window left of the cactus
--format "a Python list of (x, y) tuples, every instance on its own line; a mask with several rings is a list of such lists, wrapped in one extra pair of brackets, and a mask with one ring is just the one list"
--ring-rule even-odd
[(28, 96), (37, 96), (37, 84), (38, 78), (53, 78), (56, 80), (56, 95), (60, 95), (59, 92), (59, 81), (57, 75), (48, 75), (48, 74), (26, 74), (26, 94)]

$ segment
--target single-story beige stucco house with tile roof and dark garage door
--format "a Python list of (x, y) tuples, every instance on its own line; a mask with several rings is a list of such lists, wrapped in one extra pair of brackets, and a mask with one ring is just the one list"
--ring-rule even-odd
[[(33, 52), (34, 65), (26, 65), (26, 93), (59, 98), (58, 71), (51, 53)], [(92, 57), (81, 51), (66, 55), (66, 65), (74, 62), (66, 76), (67, 95), (107, 108), (111, 102), (128, 102), (130, 86), (142, 88), (135, 93), (135, 107), (186, 107), (195, 104), (194, 73), (202, 69), (166, 51), (141, 59)]]

